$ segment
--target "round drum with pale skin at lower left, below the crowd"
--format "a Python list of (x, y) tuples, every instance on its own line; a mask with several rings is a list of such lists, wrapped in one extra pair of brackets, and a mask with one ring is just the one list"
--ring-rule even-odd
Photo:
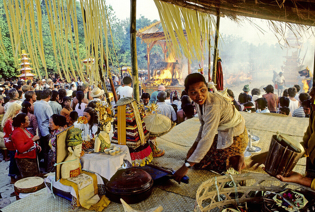
[(26, 177), (14, 183), (14, 192), (16, 195), (20, 193), (33, 193), (45, 187), (44, 179), (41, 177)]

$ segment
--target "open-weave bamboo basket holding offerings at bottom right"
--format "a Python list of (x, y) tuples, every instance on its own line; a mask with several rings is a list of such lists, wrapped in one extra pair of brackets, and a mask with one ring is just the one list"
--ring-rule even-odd
[[(236, 188), (232, 179), (235, 182)], [(240, 182), (246, 180), (246, 185), (241, 186)], [(230, 188), (226, 188), (228, 183), (231, 183)], [(217, 185), (217, 188), (215, 186)], [(271, 177), (268, 174), (262, 173), (245, 173), (238, 175), (224, 175), (219, 177), (213, 177), (209, 180), (201, 183), (197, 189), (196, 203), (194, 212), (205, 212), (205, 211), (221, 211), (224, 206), (228, 204), (236, 204), (237, 199), (235, 192), (237, 191), (238, 203), (245, 202), (262, 202), (262, 197), (253, 197), (251, 193), (256, 191), (271, 191), (279, 192), (285, 188), (292, 190), (302, 188), (307, 192), (314, 191), (310, 188), (303, 187), (296, 183), (281, 182), (277, 178)], [(220, 196), (220, 200), (218, 198)]]

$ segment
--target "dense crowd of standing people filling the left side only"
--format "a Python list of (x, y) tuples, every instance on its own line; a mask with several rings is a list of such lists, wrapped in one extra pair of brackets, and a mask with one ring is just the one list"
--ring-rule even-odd
[[(131, 79), (130, 77), (127, 77)], [(71, 126), (82, 128), (83, 138), (93, 138), (98, 129), (96, 101), (105, 101), (105, 91), (79, 78), (36, 79), (0, 82), (0, 148), (9, 162), (11, 183), (55, 171), (56, 135)], [(85, 117), (86, 124), (78, 124)]]

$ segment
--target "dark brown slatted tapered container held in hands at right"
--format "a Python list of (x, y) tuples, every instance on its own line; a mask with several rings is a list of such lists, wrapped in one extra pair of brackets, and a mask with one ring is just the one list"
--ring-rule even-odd
[(277, 136), (273, 135), (266, 158), (265, 171), (272, 177), (276, 177), (278, 174), (287, 177), (302, 155), (290, 146), (280, 144)]

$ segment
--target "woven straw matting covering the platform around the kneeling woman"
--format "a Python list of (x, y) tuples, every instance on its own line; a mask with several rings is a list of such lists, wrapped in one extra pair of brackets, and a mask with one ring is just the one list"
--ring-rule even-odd
[[(307, 118), (281, 117), (245, 112), (242, 112), (242, 115), (245, 119), (246, 127), (248, 129), (252, 128), (253, 134), (260, 137), (260, 142), (256, 145), (262, 148), (262, 152), (269, 149), (271, 137), (275, 132), (280, 131), (293, 135), (295, 139), (302, 141), (302, 136), (308, 126)], [(152, 164), (175, 170), (180, 168), (184, 164), (187, 151), (196, 139), (199, 127), (200, 122), (198, 118), (194, 117), (175, 126), (166, 135), (157, 138), (157, 145), (165, 150), (165, 154), (162, 157), (154, 158)], [(246, 163), (249, 162), (250, 159), (246, 160)], [(301, 159), (294, 170), (304, 173), (305, 159)], [(261, 168), (257, 170), (245, 168), (242, 170), (242, 172), (248, 171), (265, 173)], [(161, 204), (163, 211), (192, 211), (199, 185), (205, 180), (218, 175), (211, 171), (192, 168), (189, 169), (187, 176), (190, 177), (189, 184), (178, 184), (174, 180), (162, 182), (153, 188), (152, 195), (148, 199), (141, 203), (133, 204), (132, 207), (137, 210), (146, 211)], [(24, 208), (25, 211), (72, 211), (70, 201), (60, 197), (54, 199), (51, 194), (47, 194), (45, 189), (18, 200), (2, 210), (4, 212), (11, 212), (19, 211), (21, 208)], [(88, 210), (78, 208), (75, 211)], [(123, 207), (121, 204), (110, 203), (103, 211), (123, 211)]]

